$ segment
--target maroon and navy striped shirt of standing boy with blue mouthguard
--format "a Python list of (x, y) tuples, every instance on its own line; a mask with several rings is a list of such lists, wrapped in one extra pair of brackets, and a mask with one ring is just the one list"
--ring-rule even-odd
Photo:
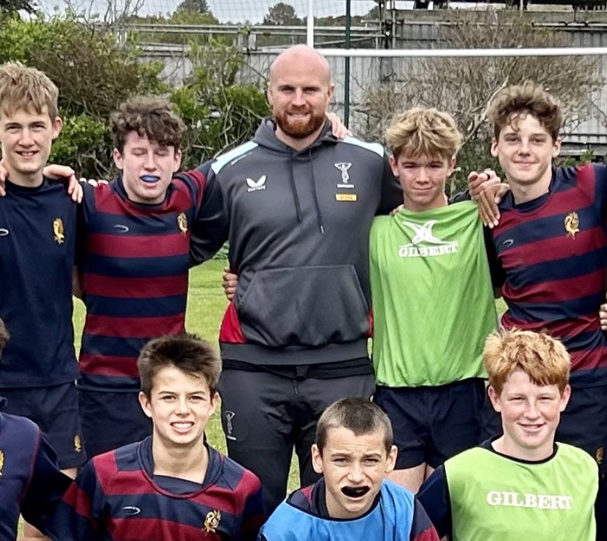
[(202, 170), (181, 174), (154, 205), (130, 201), (121, 178), (84, 185), (78, 223), (83, 388), (138, 391), (141, 348), (185, 331), (191, 225), (206, 182)]

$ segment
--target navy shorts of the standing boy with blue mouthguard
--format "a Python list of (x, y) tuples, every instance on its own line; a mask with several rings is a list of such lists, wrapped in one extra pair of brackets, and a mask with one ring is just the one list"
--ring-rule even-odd
[(116, 393), (80, 389), (84, 446), (89, 457), (152, 434), (152, 419), (143, 413), (139, 392)]

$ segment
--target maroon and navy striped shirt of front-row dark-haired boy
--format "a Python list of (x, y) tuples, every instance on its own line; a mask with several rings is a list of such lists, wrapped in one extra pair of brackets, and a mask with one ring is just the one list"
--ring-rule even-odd
[(97, 455), (45, 533), (57, 541), (255, 540), (264, 522), (259, 479), (207, 449), (202, 485), (154, 476), (152, 437)]

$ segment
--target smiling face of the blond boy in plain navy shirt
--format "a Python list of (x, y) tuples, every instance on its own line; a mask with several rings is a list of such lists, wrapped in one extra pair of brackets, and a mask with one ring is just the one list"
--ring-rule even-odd
[(17, 109), (0, 115), (0, 145), (11, 181), (22, 186), (42, 183), (42, 169), (61, 125), (60, 118), (49, 116), (46, 106), (41, 113)]

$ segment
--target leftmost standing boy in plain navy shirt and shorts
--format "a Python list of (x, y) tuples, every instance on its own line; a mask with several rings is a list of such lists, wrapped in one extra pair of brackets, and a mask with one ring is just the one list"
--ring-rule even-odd
[[(0, 146), (8, 173), (0, 198), (0, 394), (6, 412), (47, 434), (66, 474), (86, 461), (75, 380), (72, 268), (76, 205), (42, 174), (61, 130), (58, 90), (42, 72), (0, 66)], [(33, 532), (26, 533), (33, 535)]]

